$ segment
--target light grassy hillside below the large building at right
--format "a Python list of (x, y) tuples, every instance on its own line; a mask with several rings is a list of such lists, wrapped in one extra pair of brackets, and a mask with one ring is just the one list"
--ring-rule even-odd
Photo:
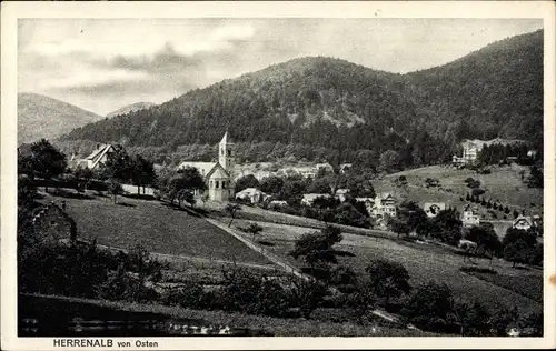
[(542, 209), (543, 190), (527, 188), (519, 176), (522, 169), (524, 168), (516, 164), (492, 167), (490, 174), (477, 174), (467, 169), (458, 170), (451, 167), (431, 166), (389, 174), (374, 185), (378, 189), (393, 188), (391, 180), (399, 176), (406, 176), (410, 185), (420, 187), (427, 177), (431, 177), (438, 179), (444, 189), (453, 189), (454, 197), (459, 198), (461, 194), (465, 197), (467, 192), (470, 192), (464, 183), (465, 179), (470, 177), (480, 181), (480, 188), (486, 191), (486, 198), (499, 200), (505, 205), (530, 209), (533, 203), (534, 209)]

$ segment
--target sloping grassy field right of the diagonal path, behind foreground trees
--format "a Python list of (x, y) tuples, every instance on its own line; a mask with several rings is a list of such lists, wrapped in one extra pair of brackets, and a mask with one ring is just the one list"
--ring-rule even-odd
[[(248, 221), (238, 220), (235, 225), (245, 225)], [(294, 248), (297, 238), (311, 229), (292, 225), (274, 224), (259, 222), (264, 228), (261, 234), (256, 239), (259, 244), (265, 244), (268, 250), (282, 255), (292, 264), (301, 267), (302, 263), (288, 257), (287, 253)], [(250, 238), (246, 234), (246, 238)], [(450, 287), (456, 297), (466, 300), (479, 300), (492, 309), (497, 309), (499, 304), (513, 307), (517, 304), (522, 312), (538, 311), (542, 303), (536, 299), (538, 295), (525, 293), (523, 290), (513, 289), (510, 283), (500, 281), (489, 282), (477, 277), (459, 271), (459, 268), (469, 262), (464, 262), (461, 255), (454, 254), (443, 248), (395, 241), (383, 238), (369, 238), (356, 234), (344, 233), (344, 240), (337, 245), (342, 264), (351, 267), (359, 274), (365, 274), (365, 268), (371, 259), (383, 258), (397, 261), (408, 270), (410, 284), (418, 285), (429, 280), (445, 282)], [(535, 287), (543, 285), (542, 272), (537, 270), (516, 270), (512, 263), (503, 260), (474, 259), (478, 267), (490, 267), (500, 277), (509, 277), (513, 281), (528, 281)], [(498, 278), (504, 279), (504, 278)], [(508, 289), (506, 289), (508, 288)], [(518, 293), (514, 290), (522, 291)], [(527, 297), (528, 295), (528, 297)]]

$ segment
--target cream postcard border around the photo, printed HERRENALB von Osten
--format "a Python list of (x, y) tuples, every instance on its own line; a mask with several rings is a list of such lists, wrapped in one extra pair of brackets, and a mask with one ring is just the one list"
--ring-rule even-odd
[[(148, 339), (160, 350), (554, 348), (555, 293), (555, 6), (552, 1), (393, 2), (2, 2), (1, 4), (1, 347), (56, 350), (53, 338), (17, 337), (17, 20), (19, 18), (538, 18), (545, 40), (545, 337), (544, 338), (110, 338)], [(552, 283), (550, 281), (552, 277)], [(107, 338), (95, 338), (107, 339)], [(70, 348), (64, 348), (70, 349)], [(135, 348), (96, 348), (133, 350)]]

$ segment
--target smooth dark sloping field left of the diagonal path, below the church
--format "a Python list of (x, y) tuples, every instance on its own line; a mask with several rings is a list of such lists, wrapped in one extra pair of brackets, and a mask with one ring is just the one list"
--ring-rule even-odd
[(66, 200), (79, 238), (127, 249), (140, 243), (148, 251), (238, 262), (269, 263), (239, 240), (199, 217), (158, 201), (90, 194), (89, 199), (47, 195), (42, 201)]

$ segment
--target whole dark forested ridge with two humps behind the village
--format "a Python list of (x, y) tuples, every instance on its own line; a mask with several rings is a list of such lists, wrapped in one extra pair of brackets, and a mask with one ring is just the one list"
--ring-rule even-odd
[[(339, 150), (394, 149), (428, 163), (464, 138), (542, 138), (543, 31), (409, 74), (311, 57), (268, 67), (64, 139), (166, 147), (237, 141)], [(101, 139), (101, 140), (99, 140)], [(413, 156), (411, 156), (413, 154)]]

